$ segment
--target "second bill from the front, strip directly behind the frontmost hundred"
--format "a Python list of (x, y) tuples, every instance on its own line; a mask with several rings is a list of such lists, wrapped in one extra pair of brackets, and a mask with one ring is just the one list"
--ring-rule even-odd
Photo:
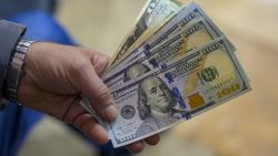
[(118, 87), (140, 74), (160, 67), (167, 61), (175, 59), (175, 56), (182, 58), (185, 53), (205, 45), (221, 35), (222, 33), (219, 33), (217, 28), (211, 28), (203, 18), (193, 20), (187, 27), (180, 29), (176, 33), (176, 37), (173, 35), (169, 40), (166, 40), (163, 44), (158, 44), (140, 53), (137, 55), (137, 59), (123, 64), (122, 67), (110, 71), (107, 76), (108, 79), (103, 77), (102, 80), (108, 87)]

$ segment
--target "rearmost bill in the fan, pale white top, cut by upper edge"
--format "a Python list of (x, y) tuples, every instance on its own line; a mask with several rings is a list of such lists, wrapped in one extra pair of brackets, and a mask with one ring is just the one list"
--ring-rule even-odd
[(140, 18), (136, 27), (123, 40), (123, 43), (120, 44), (107, 69), (109, 70), (110, 65), (119, 63), (119, 59), (147, 29), (152, 29), (152, 27), (163, 23), (163, 21), (179, 11), (181, 4), (177, 0), (148, 0), (139, 14)]

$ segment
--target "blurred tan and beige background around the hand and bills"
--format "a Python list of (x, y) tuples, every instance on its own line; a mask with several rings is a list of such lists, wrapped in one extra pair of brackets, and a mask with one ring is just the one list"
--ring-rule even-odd
[[(185, 0), (183, 0), (185, 1)], [(237, 46), (252, 91), (161, 136), (139, 156), (278, 155), (278, 1), (196, 0)], [(145, 0), (61, 0), (56, 17), (78, 43), (112, 55)], [(20, 156), (93, 156), (63, 124), (44, 118)]]

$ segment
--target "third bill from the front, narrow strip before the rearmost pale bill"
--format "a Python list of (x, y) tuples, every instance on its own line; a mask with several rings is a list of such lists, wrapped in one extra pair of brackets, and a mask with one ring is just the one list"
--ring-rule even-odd
[[(132, 46), (128, 51), (126, 51), (121, 58), (118, 59), (120, 64), (125, 65), (125, 63), (132, 60), (135, 56), (137, 56), (138, 53), (142, 52), (145, 49), (151, 49), (157, 44), (163, 42), (175, 33), (179, 32), (179, 30), (186, 27), (190, 21), (198, 18), (205, 18), (211, 25), (211, 28), (217, 28), (216, 24), (203, 12), (203, 10), (198, 4), (192, 2), (183, 7), (177, 15), (171, 18), (168, 22), (166, 22), (155, 32), (150, 30), (148, 35), (142, 37), (143, 39), (138, 39), (136, 43), (133, 43)], [(217, 29), (217, 31), (219, 31), (218, 33), (221, 33), (219, 29)], [(110, 66), (109, 72), (118, 66), (118, 63), (113, 63), (113, 65)]]

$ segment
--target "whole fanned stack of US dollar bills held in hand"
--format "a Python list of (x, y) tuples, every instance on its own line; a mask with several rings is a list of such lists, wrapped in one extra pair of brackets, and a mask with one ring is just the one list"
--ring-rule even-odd
[(236, 48), (196, 3), (148, 0), (102, 75), (118, 118), (102, 121), (115, 147), (166, 131), (250, 91)]

